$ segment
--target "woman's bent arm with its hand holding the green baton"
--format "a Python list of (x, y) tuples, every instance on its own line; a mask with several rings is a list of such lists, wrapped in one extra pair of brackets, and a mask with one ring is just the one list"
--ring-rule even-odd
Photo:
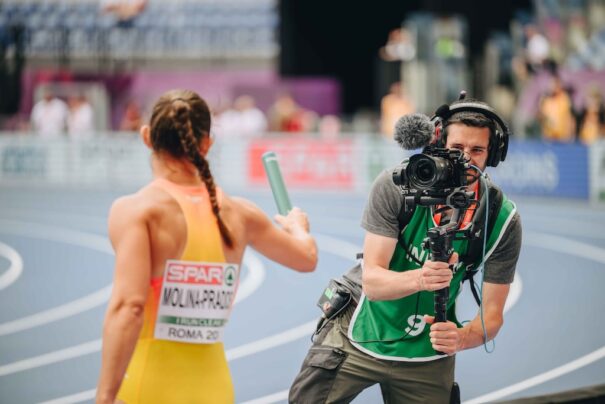
[(233, 198), (246, 220), (248, 243), (267, 258), (299, 272), (312, 272), (317, 265), (317, 244), (309, 234), (307, 215), (294, 207), (287, 216), (276, 215), (275, 226), (252, 202)]

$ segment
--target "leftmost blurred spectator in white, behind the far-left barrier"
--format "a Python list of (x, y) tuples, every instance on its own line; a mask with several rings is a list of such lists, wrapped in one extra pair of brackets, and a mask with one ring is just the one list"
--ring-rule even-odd
[(32, 109), (32, 128), (42, 137), (58, 137), (65, 133), (67, 113), (67, 104), (46, 89), (43, 98)]

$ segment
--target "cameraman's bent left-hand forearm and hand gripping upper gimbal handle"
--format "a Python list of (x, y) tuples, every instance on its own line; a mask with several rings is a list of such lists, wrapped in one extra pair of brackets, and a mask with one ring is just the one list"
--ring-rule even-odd
[[(366, 232), (363, 243), (363, 291), (370, 300), (393, 300), (422, 290), (449, 286), (452, 271), (445, 262), (425, 261), (421, 269), (404, 272), (388, 269), (397, 239)], [(458, 261), (454, 253), (450, 263)]]

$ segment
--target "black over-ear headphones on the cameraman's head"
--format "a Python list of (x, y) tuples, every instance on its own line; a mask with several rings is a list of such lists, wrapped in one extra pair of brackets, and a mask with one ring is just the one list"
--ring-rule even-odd
[[(463, 99), (461, 94), (461, 98)], [(433, 119), (436, 120), (436, 139), (437, 146), (445, 147), (446, 131), (445, 123), (454, 114), (460, 112), (475, 112), (485, 116), (495, 123), (495, 130), (490, 134), (488, 156), (486, 164), (490, 167), (496, 167), (498, 163), (506, 159), (508, 152), (508, 137), (511, 135), (508, 126), (502, 118), (498, 116), (496, 111), (487, 104), (482, 104), (472, 101), (458, 101), (451, 105), (444, 104), (437, 108)]]

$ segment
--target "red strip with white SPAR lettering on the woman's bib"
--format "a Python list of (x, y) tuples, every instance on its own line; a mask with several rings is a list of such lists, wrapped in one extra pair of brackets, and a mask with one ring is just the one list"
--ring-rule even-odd
[[(235, 279), (235, 268), (229, 266), (225, 272), (229, 271), (229, 277), (225, 283), (231, 286)], [(195, 285), (222, 285), (223, 267), (220, 264), (206, 264), (193, 262), (170, 262), (168, 264), (166, 281), (173, 283), (188, 283)]]

